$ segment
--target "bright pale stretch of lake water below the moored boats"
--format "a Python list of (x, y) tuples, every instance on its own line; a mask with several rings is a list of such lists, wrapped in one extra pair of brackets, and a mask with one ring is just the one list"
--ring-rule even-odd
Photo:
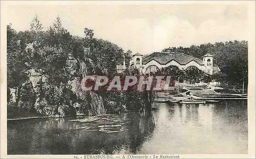
[(242, 104), (247, 102), (162, 104), (153, 137), (139, 153), (247, 153), (247, 108)]

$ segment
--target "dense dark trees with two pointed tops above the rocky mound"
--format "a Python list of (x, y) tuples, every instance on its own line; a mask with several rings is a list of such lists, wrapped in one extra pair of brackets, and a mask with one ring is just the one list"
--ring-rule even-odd
[(7, 25), (8, 87), (23, 83), (23, 72), (28, 69), (44, 70), (52, 82), (67, 82), (70, 79), (61, 75), (60, 68), (66, 65), (68, 56), (90, 58), (96, 71), (111, 74), (116, 72), (116, 65), (122, 63), (123, 56), (129, 59), (132, 53), (124, 52), (107, 40), (94, 38), (93, 30), (87, 28), (84, 29), (84, 37), (72, 36), (62, 27), (60, 17), (47, 31), (42, 31), (37, 16), (30, 26), (29, 31), (16, 32), (11, 25)]

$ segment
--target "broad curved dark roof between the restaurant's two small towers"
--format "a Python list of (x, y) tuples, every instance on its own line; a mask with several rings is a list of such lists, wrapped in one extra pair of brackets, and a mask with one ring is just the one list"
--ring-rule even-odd
[(195, 61), (199, 65), (203, 65), (203, 60), (188, 56), (180, 52), (156, 52), (142, 59), (142, 64), (146, 64), (152, 60), (156, 60), (160, 64), (164, 65), (172, 60), (175, 60), (181, 65), (185, 65), (190, 61)]

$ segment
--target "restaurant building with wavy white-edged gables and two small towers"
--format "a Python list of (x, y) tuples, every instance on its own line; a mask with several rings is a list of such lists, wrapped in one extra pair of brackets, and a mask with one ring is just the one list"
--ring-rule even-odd
[(133, 55), (129, 66), (125, 66), (125, 63), (118, 65), (117, 71), (120, 73), (127, 67), (136, 67), (142, 74), (149, 74), (165, 67), (176, 66), (181, 70), (197, 67), (212, 75), (220, 71), (219, 67), (213, 66), (213, 60), (214, 56), (210, 54), (206, 54), (201, 60), (180, 52), (155, 52), (145, 57), (137, 53)]

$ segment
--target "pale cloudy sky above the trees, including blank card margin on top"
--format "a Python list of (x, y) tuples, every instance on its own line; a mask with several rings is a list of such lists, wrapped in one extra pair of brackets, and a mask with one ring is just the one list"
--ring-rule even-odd
[(35, 14), (47, 30), (59, 15), (72, 35), (93, 29), (134, 54), (249, 38), (247, 2), (4, 2), (5, 22), (16, 31), (29, 30)]

